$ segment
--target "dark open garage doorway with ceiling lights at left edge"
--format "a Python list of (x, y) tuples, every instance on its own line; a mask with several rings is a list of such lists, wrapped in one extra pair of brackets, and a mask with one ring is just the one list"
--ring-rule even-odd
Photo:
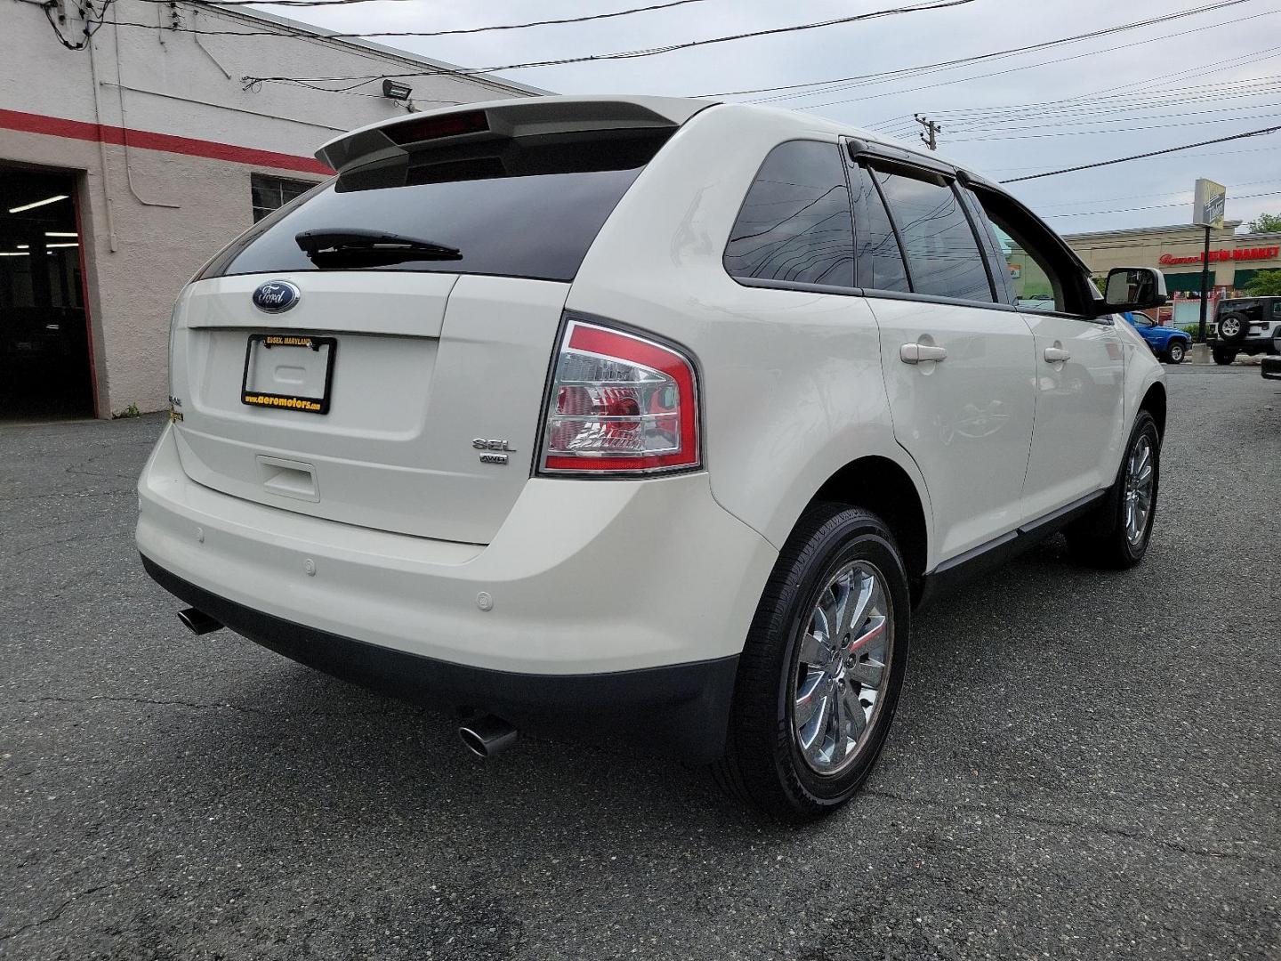
[(0, 168), (0, 420), (92, 415), (76, 182)]

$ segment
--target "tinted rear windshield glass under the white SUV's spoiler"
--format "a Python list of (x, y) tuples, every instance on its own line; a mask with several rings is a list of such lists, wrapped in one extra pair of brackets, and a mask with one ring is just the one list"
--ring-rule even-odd
[[(206, 277), (315, 270), (302, 231), (380, 231), (455, 247), (447, 260), (341, 269), (571, 281), (671, 131), (610, 131), (418, 150), (348, 170), (261, 220)], [(330, 268), (337, 269), (337, 268)]]

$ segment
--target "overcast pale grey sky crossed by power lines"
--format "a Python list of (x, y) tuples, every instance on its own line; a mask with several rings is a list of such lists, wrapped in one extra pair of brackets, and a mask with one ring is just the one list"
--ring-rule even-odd
[[(338, 31), (447, 29), (576, 17), (658, 1), (382, 0), (333, 8), (264, 5), (264, 9)], [(647, 49), (918, 1), (697, 0), (673, 9), (584, 24), (378, 42), (455, 64), (491, 67)], [(1212, 1), (974, 0), (953, 9), (739, 40), (635, 60), (521, 69), (502, 76), (561, 94), (720, 94), (1008, 50)], [(1065, 62), (1065, 58), (1073, 59)], [(1050, 63), (1054, 60), (1061, 63)], [(995, 72), (1002, 73), (983, 76)], [(1252, 88), (1239, 86), (1250, 82)], [(776, 105), (852, 126), (906, 131), (912, 126), (912, 113), (938, 115), (944, 128), (943, 152), (993, 178), (1004, 179), (1281, 123), (1281, 3), (1244, 0), (1235, 6), (1170, 23), (947, 72), (870, 86), (847, 85), (817, 94), (802, 91), (801, 96), (788, 92), (793, 95)], [(763, 96), (776, 95), (730, 99)], [(1054, 109), (1039, 105), (1067, 99), (1073, 103)], [(1007, 111), (997, 119), (990, 119), (990, 113), (986, 118), (974, 115), (980, 109), (1022, 105), (1031, 106)], [(1109, 113), (1100, 113), (1103, 109)], [(1150, 129), (1139, 129), (1144, 127)], [(916, 135), (906, 136), (915, 138)], [(1039, 213), (1052, 217), (1050, 223), (1059, 231), (1070, 233), (1186, 223), (1196, 177), (1228, 186), (1230, 219), (1249, 220), (1264, 210), (1281, 211), (1281, 133), (1012, 185), (1012, 190)], [(1271, 196), (1248, 196), (1262, 193)], [(1158, 206), (1167, 204), (1177, 206)]]

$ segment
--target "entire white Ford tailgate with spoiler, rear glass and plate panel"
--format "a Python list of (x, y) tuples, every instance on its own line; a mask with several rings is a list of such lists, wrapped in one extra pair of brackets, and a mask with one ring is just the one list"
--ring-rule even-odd
[(702, 106), (502, 101), (325, 145), (338, 177), (179, 300), (183, 470), (283, 510), (488, 543), (530, 475), (579, 264)]

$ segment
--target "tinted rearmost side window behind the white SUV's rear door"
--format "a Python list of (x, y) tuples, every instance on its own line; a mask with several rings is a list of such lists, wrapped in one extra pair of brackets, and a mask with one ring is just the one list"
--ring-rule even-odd
[(725, 246), (733, 277), (854, 286), (854, 236), (835, 144), (798, 140), (765, 158)]

